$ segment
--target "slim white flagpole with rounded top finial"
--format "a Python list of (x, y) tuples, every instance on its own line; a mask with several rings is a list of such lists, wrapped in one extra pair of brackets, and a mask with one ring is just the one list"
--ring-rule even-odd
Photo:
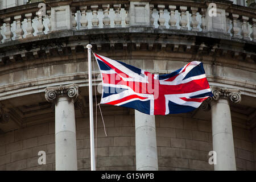
[(92, 96), (92, 45), (88, 44), (88, 74), (89, 74), (89, 109), (90, 109), (90, 168), (92, 171), (95, 169), (95, 151), (94, 151), (94, 127), (93, 127), (93, 96)]

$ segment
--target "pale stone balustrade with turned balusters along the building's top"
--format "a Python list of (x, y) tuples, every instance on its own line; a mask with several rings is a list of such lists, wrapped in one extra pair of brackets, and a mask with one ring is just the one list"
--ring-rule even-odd
[[(102, 2), (101, 2), (102, 3)], [(248, 7), (236, 10), (232, 2), (216, 1), (217, 16), (210, 17), (208, 2), (122, 1), (90, 4), (87, 1), (54, 3), (46, 1), (46, 15), (39, 14), (38, 3), (0, 10), (1, 43), (49, 34), (52, 31), (93, 28), (151, 26), (156, 29), (218, 32), (256, 42), (256, 13)]]

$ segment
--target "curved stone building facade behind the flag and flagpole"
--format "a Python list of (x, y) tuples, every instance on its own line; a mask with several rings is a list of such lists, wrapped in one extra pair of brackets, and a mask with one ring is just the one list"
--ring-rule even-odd
[[(87, 44), (100, 55), (151, 73), (171, 73), (189, 61), (204, 63), (212, 100), (191, 113), (150, 119), (157, 160), (147, 162), (155, 169), (256, 169), (253, 2), (45, 2), (41, 13), (39, 2), (0, 10), (0, 170), (56, 169), (57, 109), (56, 101), (48, 102), (46, 88), (59, 92), (60, 85), (71, 84), (77, 85), (76, 98), (68, 90), (60, 95), (74, 103), (77, 169), (90, 170)], [(210, 3), (216, 16), (208, 14)], [(100, 90), (95, 69), (93, 85)], [(137, 113), (108, 105), (101, 110), (105, 128), (99, 110), (94, 122), (96, 169), (143, 169), (138, 156), (147, 151), (137, 144), (142, 135)], [(213, 150), (219, 166), (208, 162)], [(46, 152), (46, 164), (38, 164), (39, 151)]]

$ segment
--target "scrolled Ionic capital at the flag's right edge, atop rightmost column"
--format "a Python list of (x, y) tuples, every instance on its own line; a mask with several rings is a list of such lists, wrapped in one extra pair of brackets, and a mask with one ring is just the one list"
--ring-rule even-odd
[(228, 89), (228, 88), (220, 88), (217, 86), (212, 86), (213, 97), (212, 100), (218, 100), (220, 98), (225, 98), (235, 104), (241, 102), (241, 93), (240, 90), (237, 89)]

